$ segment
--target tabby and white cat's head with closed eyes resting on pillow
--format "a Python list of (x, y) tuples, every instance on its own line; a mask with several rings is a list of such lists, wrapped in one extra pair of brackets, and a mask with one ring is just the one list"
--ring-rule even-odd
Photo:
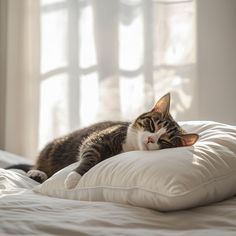
[(151, 111), (140, 115), (130, 125), (127, 149), (159, 150), (193, 145), (199, 138), (198, 134), (186, 133), (172, 118), (169, 109), (168, 93)]

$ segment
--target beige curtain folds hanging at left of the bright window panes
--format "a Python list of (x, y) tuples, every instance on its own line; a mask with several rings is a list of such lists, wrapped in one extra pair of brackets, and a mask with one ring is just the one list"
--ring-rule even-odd
[(40, 1), (1, 0), (1, 148), (38, 148)]

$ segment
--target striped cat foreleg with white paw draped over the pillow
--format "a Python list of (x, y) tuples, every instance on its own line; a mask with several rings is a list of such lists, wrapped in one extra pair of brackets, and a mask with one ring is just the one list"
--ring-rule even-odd
[(81, 155), (79, 165), (72, 172), (70, 172), (65, 180), (65, 187), (67, 189), (75, 188), (79, 183), (81, 177), (98, 162), (101, 161), (100, 154), (95, 149), (88, 149)]

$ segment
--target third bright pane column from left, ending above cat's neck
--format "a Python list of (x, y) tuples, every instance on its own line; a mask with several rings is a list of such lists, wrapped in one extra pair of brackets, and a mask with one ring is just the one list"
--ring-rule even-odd
[[(132, 1), (132, 3), (140, 4), (140, 1)], [(143, 74), (140, 73), (144, 60), (141, 6), (136, 7), (133, 14), (135, 18), (123, 21), (120, 19), (119, 24), (120, 111), (123, 119), (126, 120), (133, 119), (144, 104), (145, 80)], [(135, 71), (138, 70), (140, 72), (136, 73)], [(128, 75), (125, 75), (127, 73)]]

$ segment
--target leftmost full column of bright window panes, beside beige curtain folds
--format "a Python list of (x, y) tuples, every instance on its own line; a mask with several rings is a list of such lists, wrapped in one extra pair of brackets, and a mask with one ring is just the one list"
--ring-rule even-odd
[[(41, 83), (39, 149), (69, 127), (68, 11), (45, 6), (65, 1), (41, 1)], [(53, 6), (53, 5), (52, 5)], [(58, 73), (61, 71), (61, 73)]]

